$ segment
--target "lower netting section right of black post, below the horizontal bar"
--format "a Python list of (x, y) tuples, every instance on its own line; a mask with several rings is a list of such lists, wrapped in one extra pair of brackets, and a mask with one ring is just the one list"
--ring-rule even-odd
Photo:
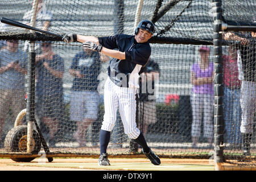
[(247, 165), (255, 156), (255, 39), (250, 32), (232, 35), (247, 37), (248, 44), (224, 47), (224, 152), (226, 159), (238, 160), (231, 163)]

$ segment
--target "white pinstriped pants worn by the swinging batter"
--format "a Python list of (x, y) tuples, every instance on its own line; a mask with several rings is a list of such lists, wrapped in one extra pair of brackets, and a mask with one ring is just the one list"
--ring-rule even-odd
[(125, 88), (115, 85), (110, 78), (105, 82), (104, 87), (104, 105), (105, 114), (101, 129), (112, 131), (117, 118), (117, 109), (121, 115), (125, 134), (131, 139), (139, 137), (139, 131), (136, 125), (136, 89)]

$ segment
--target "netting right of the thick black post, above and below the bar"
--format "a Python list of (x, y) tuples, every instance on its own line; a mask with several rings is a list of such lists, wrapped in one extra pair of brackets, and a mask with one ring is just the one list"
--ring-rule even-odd
[[(234, 8), (239, 6), (239, 10)], [(255, 23), (255, 2), (222, 1), (223, 21)], [(224, 158), (255, 166), (255, 35), (223, 32)]]

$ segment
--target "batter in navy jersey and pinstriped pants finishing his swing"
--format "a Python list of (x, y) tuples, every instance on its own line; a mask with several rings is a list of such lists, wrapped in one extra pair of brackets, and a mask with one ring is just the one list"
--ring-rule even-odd
[(135, 35), (117, 34), (114, 36), (95, 37), (77, 34), (63, 36), (66, 43), (81, 42), (83, 46), (113, 57), (108, 67), (108, 79), (104, 88), (105, 114), (100, 131), (100, 166), (110, 166), (106, 152), (110, 140), (117, 109), (122, 118), (125, 134), (142, 146), (142, 151), (154, 165), (160, 159), (147, 146), (143, 134), (135, 122), (135, 94), (139, 88), (139, 71), (147, 64), (151, 55), (148, 40), (152, 37), (155, 26), (149, 20), (142, 20), (135, 28)]

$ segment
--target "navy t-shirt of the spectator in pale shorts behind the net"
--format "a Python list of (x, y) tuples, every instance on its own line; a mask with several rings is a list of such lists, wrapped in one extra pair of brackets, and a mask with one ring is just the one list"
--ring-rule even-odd
[(98, 87), (97, 77), (100, 74), (101, 60), (98, 52), (90, 55), (85, 51), (77, 53), (73, 58), (71, 69), (80, 71), (83, 77), (73, 79), (72, 90), (75, 91), (95, 91)]

